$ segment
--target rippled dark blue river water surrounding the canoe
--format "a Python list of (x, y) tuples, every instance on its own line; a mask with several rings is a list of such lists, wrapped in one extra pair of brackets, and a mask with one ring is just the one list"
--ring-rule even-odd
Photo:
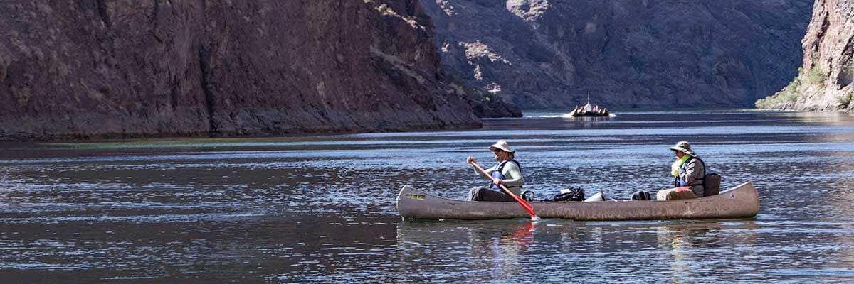
[[(480, 130), (3, 144), (3, 282), (851, 282), (854, 115), (526, 112)], [(667, 188), (692, 142), (757, 217), (401, 219), (409, 184), (462, 199), (517, 150), (538, 198)]]

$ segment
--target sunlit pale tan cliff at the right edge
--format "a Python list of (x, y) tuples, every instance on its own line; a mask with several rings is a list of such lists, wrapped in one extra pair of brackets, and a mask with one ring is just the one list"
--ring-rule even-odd
[(816, 0), (804, 40), (804, 64), (760, 108), (854, 112), (854, 3)]

